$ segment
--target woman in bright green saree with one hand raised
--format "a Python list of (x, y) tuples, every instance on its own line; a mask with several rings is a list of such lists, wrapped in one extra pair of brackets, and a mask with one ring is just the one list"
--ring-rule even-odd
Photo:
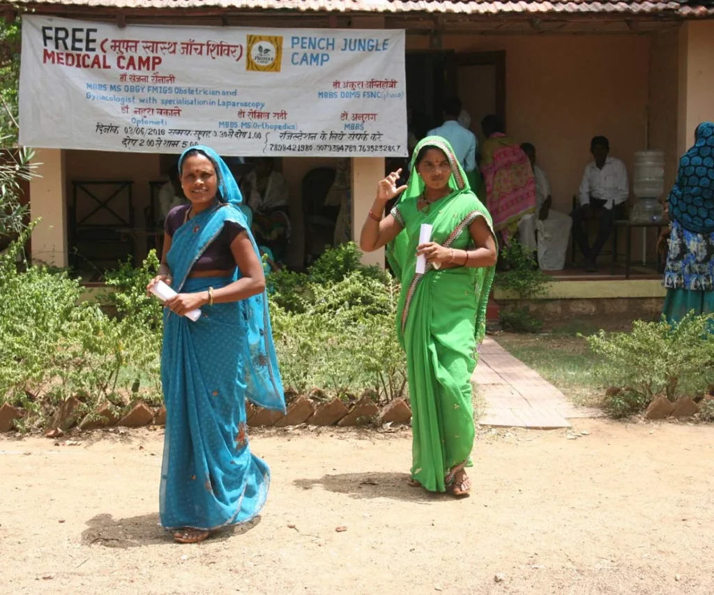
[[(440, 136), (414, 150), (411, 176), (400, 171), (378, 186), (362, 228), (361, 248), (388, 245), (401, 280), (397, 333), (408, 364), (413, 446), (412, 486), (468, 494), (474, 423), (471, 375), (476, 345), (486, 334), (486, 305), (498, 251), (491, 216), (473, 194), (451, 145)], [(384, 205), (401, 194), (391, 213)], [(422, 224), (431, 241), (419, 244)], [(426, 272), (416, 272), (417, 256)]]

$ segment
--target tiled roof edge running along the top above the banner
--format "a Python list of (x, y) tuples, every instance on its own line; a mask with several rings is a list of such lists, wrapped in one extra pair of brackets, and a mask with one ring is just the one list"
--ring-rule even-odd
[(714, 16), (714, 1), (675, 0), (19, 0), (34, 6), (83, 6), (122, 9), (296, 10), (304, 12), (378, 12), (387, 14), (653, 14)]

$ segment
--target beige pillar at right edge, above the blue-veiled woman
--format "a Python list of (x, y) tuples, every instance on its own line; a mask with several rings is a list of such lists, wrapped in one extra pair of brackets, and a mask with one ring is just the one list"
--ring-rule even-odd
[[(687, 21), (679, 37), (678, 153), (703, 121), (714, 121), (714, 21)], [(665, 84), (665, 83), (663, 83)]]

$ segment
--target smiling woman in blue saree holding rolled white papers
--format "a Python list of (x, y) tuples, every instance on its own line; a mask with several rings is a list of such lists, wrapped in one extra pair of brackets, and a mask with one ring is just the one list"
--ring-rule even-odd
[[(261, 511), (270, 470), (251, 454), (246, 399), (285, 411), (265, 276), (241, 192), (220, 156), (196, 146), (178, 162), (191, 204), (166, 217), (161, 382), (166, 438), (161, 524), (196, 543)], [(183, 316), (201, 309), (195, 322)]]

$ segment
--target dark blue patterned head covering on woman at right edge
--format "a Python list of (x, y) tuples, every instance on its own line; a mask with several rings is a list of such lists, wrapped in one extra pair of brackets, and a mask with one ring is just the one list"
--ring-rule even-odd
[(714, 124), (697, 126), (694, 146), (680, 159), (669, 213), (696, 234), (714, 231)]

